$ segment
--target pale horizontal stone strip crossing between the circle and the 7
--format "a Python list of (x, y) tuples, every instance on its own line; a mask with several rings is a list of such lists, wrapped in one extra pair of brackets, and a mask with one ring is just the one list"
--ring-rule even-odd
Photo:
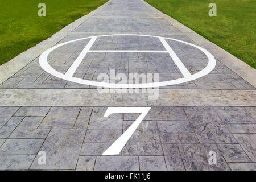
[(255, 106), (255, 90), (160, 89), (149, 94), (98, 94), (97, 89), (1, 89), (0, 106)]

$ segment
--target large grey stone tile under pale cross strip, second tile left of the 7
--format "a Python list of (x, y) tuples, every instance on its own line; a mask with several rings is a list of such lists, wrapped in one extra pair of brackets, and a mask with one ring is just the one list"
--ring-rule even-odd
[(72, 129), (80, 107), (52, 107), (46, 115), (40, 129)]

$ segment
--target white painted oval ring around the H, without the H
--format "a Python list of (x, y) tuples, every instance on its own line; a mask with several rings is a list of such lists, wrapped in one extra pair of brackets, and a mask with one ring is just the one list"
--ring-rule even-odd
[[(182, 77), (182, 78), (178, 78), (176, 80), (169, 80), (169, 81), (162, 81), (162, 82), (152, 82), (152, 83), (141, 83), (141, 84), (115, 84), (115, 83), (84, 80), (84, 79), (76, 78), (76, 77), (73, 77), (73, 76), (67, 76), (63, 73), (60, 73), (60, 72), (56, 71), (55, 69), (53, 69), (51, 67), (51, 65), (49, 65), (49, 63), (47, 61), (47, 56), (54, 49), (56, 49), (58, 47), (61, 47), (65, 44), (69, 44), (69, 43), (76, 42), (76, 41), (79, 41), (79, 40), (90, 39), (90, 38), (94, 38), (94, 37), (98, 38), (98, 37), (102, 37), (102, 36), (148, 36), (148, 37), (153, 37), (153, 38), (164, 38), (164, 39), (168, 39), (168, 40), (174, 40), (174, 41), (177, 41), (177, 42), (188, 44), (189, 46), (196, 47), (200, 51), (204, 52), (205, 55), (208, 58), (208, 64), (200, 72), (197, 72), (197, 73), (195, 73), (195, 74), (193, 74), (189, 77)], [(86, 37), (86, 38), (69, 40), (68, 42), (57, 44), (56, 46), (53, 46), (52, 48), (47, 49), (46, 51), (44, 51), (42, 53), (42, 55), (40, 55), (39, 64), (44, 69), (44, 71), (48, 72), (49, 74), (51, 74), (53, 76), (56, 76), (58, 78), (61, 78), (63, 80), (76, 82), (78, 84), (101, 86), (101, 87), (105, 87), (105, 88), (155, 88), (155, 87), (159, 87), (159, 86), (181, 84), (181, 83), (184, 83), (184, 82), (196, 80), (197, 78), (203, 77), (203, 76), (207, 75), (208, 73), (210, 73), (214, 69), (214, 67), (216, 66), (216, 60), (215, 60), (214, 56), (210, 52), (208, 52), (206, 49), (204, 49), (202, 47), (199, 47), (199, 46), (196, 46), (195, 44), (185, 42), (183, 40), (165, 38), (165, 37), (162, 37), (162, 36), (153, 36), (153, 35), (113, 34), (113, 35), (89, 36), (89, 37)]]

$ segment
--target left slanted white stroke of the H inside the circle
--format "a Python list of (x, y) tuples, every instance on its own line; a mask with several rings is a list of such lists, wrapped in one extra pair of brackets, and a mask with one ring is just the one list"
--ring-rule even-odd
[(92, 37), (89, 41), (89, 43), (84, 47), (84, 49), (82, 50), (82, 52), (80, 53), (80, 55), (77, 57), (77, 59), (74, 61), (74, 63), (71, 65), (71, 67), (68, 68), (68, 71), (65, 72), (65, 75), (67, 76), (73, 76), (73, 74), (75, 73), (76, 69), (79, 67), (79, 65), (82, 62), (82, 59), (84, 59), (84, 56), (86, 55), (86, 53), (89, 51), (89, 49), (92, 47), (93, 43), (95, 42), (95, 40), (97, 39), (96, 36)]

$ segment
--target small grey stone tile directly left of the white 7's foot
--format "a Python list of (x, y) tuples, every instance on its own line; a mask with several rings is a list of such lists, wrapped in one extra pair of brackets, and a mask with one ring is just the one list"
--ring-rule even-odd
[(99, 155), (107, 150), (112, 143), (84, 143), (80, 155)]

